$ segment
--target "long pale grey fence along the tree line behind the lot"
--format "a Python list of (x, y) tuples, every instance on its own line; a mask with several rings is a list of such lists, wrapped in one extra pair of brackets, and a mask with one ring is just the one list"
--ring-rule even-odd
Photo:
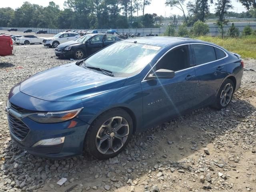
[[(245, 26), (236, 26), (239, 29), (239, 32), (241, 33), (244, 30)], [(250, 25), (250, 27), (253, 30), (256, 30), (256, 25)], [(10, 27), (0, 27), (0, 30), (7, 30)], [(15, 27), (12, 27), (15, 28)], [(225, 34), (228, 31), (228, 29), (230, 28), (230, 26), (225, 26), (224, 27), (224, 31)], [(59, 32), (64, 32), (65, 30), (90, 30), (90, 29), (47, 29), (47, 28), (17, 28), (18, 31), (25, 31), (27, 29), (32, 29), (32, 32), (36, 32), (38, 30), (46, 30), (48, 34), (57, 34)], [(191, 27), (188, 27), (188, 30), (190, 30)], [(109, 29), (98, 29), (98, 32), (106, 32)], [(178, 28), (175, 28), (176, 32), (178, 32)], [(220, 32), (218, 30), (218, 27), (209, 27), (210, 32), (208, 33), (209, 36), (219, 36)], [(166, 27), (165, 28), (138, 28), (138, 29), (117, 29), (118, 33), (140, 33), (141, 36), (146, 36), (149, 33), (154, 33), (154, 34), (164, 34), (164, 32), (166, 31)]]

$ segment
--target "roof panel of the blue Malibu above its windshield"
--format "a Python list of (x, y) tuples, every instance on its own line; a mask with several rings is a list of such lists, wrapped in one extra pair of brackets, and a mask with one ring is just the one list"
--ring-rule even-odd
[(207, 43), (201, 40), (191, 39), (191, 38), (181, 38), (181, 37), (140, 37), (140, 38), (132, 38), (132, 39), (126, 39), (122, 42), (134, 42), (141, 44), (149, 44), (153, 46), (161, 46), (165, 47), (170, 44), (184, 44), (184, 43)]

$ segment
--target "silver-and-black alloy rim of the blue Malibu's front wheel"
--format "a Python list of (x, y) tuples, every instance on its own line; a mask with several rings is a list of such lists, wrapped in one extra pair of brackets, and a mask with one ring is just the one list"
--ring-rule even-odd
[(96, 135), (96, 148), (101, 154), (113, 154), (124, 146), (129, 135), (128, 121), (120, 116), (106, 120)]

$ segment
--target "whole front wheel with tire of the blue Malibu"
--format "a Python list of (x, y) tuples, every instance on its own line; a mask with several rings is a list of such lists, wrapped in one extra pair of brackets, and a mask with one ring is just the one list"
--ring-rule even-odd
[(98, 159), (112, 158), (126, 147), (132, 131), (132, 118), (126, 111), (108, 110), (91, 124), (84, 142), (86, 151)]

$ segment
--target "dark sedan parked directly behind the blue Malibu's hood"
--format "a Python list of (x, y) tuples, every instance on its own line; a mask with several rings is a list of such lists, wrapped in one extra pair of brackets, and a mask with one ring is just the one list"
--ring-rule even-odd
[(81, 59), (120, 40), (120, 38), (109, 34), (87, 34), (76, 41), (60, 44), (55, 49), (55, 54), (60, 58)]

